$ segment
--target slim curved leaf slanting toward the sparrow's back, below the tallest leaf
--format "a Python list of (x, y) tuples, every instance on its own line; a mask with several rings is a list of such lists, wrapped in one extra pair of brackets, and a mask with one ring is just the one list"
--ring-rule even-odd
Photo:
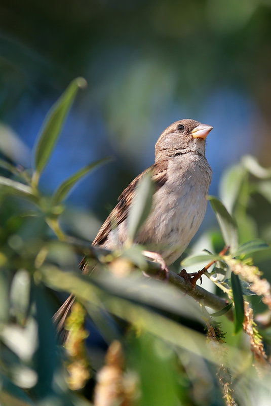
[(85, 175), (87, 175), (93, 169), (96, 169), (100, 165), (105, 164), (110, 160), (111, 160), (110, 157), (99, 159), (96, 162), (80, 169), (78, 172), (75, 172), (75, 174), (71, 175), (68, 179), (66, 179), (63, 183), (61, 183), (61, 185), (55, 191), (53, 195), (54, 203), (59, 204), (62, 200), (64, 200), (65, 197), (67, 197), (72, 187), (77, 182), (79, 182)]

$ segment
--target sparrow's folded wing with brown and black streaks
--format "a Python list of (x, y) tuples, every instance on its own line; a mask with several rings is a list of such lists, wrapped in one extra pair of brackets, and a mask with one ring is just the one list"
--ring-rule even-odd
[(156, 190), (158, 190), (160, 189), (161, 186), (163, 186), (166, 183), (168, 179), (167, 169), (168, 169), (168, 159), (162, 160), (146, 169), (144, 172), (142, 172), (142, 174), (138, 175), (138, 177), (135, 178), (133, 182), (130, 183), (129, 186), (127, 186), (127, 188), (122, 192), (122, 194), (118, 199), (119, 200), (118, 205), (115, 206), (115, 208), (111, 211), (111, 213), (101, 226), (100, 231), (98, 232), (96, 238), (92, 243), (93, 246), (101, 245), (106, 240), (112, 227), (116, 227), (127, 218), (128, 211), (135, 194), (135, 188), (140, 179), (142, 179), (142, 177), (146, 173), (151, 171), (152, 172), (151, 179), (154, 185), (156, 186)]

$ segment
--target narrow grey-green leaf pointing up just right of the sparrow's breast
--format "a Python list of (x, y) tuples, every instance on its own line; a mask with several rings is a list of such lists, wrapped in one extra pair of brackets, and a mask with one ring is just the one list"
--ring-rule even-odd
[(214, 196), (208, 196), (220, 226), (225, 244), (229, 246), (230, 253), (235, 253), (238, 249), (238, 229), (236, 221), (227, 212), (224, 205)]

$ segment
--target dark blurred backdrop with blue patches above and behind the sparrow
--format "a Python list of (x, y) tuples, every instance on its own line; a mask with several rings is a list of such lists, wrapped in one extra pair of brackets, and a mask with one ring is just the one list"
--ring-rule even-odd
[(87, 79), (42, 187), (50, 193), (91, 161), (115, 159), (69, 205), (104, 219), (181, 118), (214, 127), (211, 194), (245, 153), (271, 165), (270, 1), (1, 0), (0, 21), (0, 147), (10, 159), (29, 165), (51, 105), (71, 79)]

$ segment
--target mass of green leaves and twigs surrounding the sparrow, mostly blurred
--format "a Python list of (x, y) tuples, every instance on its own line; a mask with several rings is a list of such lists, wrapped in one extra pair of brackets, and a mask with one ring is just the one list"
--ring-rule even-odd
[[(132, 241), (123, 252), (109, 253), (89, 249), (78, 230), (70, 233), (77, 238), (67, 235), (63, 200), (101, 161), (72, 175), (53, 196), (41, 193), (40, 176), (82, 83), (75, 79), (50, 110), (32, 169), (0, 161), (1, 404), (188, 406), (233, 405), (234, 399), (246, 406), (255, 404), (253, 399), (267, 404), (271, 293), (253, 260), (263, 267), (271, 260), (262, 239), (270, 242), (271, 223), (257, 211), (259, 199), (271, 209), (271, 171), (245, 156), (224, 174), (225, 206), (210, 197), (223, 239), (218, 229), (207, 230), (212, 252), (183, 261), (214, 261), (207, 276), (213, 291), (233, 304), (235, 318), (229, 305), (210, 314), (204, 300), (182, 295), (171, 279), (163, 283), (142, 276), (140, 269), (147, 271), (150, 264)], [(149, 179), (144, 182), (137, 210), (130, 213), (131, 238), (150, 206)], [(229, 249), (222, 252), (224, 245)], [(83, 255), (95, 265), (91, 276), (77, 271)], [(65, 350), (52, 322), (61, 291), (75, 294), (92, 320), (86, 341), (85, 310), (77, 303), (66, 324)], [(264, 306), (267, 310), (265, 318), (259, 315), (259, 326), (249, 303), (253, 297), (256, 315)], [(106, 349), (92, 341), (97, 331)]]

